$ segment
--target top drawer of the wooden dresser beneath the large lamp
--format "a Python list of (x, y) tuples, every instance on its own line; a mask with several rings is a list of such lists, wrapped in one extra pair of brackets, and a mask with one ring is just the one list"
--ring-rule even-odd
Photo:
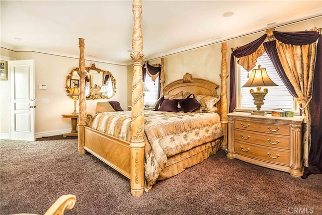
[(282, 135), (289, 135), (290, 133), (288, 125), (275, 125), (270, 123), (251, 122), (247, 120), (235, 120), (234, 128)]

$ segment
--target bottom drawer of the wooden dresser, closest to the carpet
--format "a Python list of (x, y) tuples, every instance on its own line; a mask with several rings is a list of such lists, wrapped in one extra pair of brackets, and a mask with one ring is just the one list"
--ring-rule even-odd
[(244, 156), (275, 162), (283, 165), (289, 164), (289, 152), (257, 147), (244, 142), (235, 141), (235, 152)]

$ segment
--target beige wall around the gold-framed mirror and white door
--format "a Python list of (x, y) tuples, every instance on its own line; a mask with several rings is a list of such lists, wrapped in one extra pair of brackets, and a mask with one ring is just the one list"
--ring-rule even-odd
[[(3, 50), (3, 49), (2, 49)], [(15, 53), (15, 52), (14, 52)], [(2, 55), (8, 54), (2, 52)], [(34, 52), (16, 52), (12, 57), (17, 60), (34, 59), (35, 60), (35, 94), (36, 99), (49, 99), (49, 103), (36, 103), (36, 137), (57, 135), (69, 132), (71, 128), (70, 119), (62, 118), (61, 114), (71, 113), (74, 109), (74, 102), (67, 96), (65, 83), (66, 77), (71, 69), (78, 67), (78, 59), (62, 57), (50, 54)], [(111, 99), (105, 100), (87, 100), (87, 110), (95, 111), (96, 103), (99, 101), (119, 101), (121, 107), (127, 109), (126, 100), (126, 83), (127, 74), (126, 66), (86, 61), (86, 66), (95, 63), (96, 67), (109, 70), (116, 80), (116, 94)], [(10, 110), (10, 81), (2, 81), (2, 92), (8, 92), (3, 97), (1, 94), (1, 133), (9, 133), (9, 116)], [(39, 90), (38, 85), (47, 85), (47, 90)], [(4, 102), (3, 102), (4, 100)], [(78, 101), (77, 101), (78, 110)]]

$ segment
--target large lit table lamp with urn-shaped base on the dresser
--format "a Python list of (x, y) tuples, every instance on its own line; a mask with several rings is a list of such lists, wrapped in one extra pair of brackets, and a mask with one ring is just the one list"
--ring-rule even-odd
[(257, 91), (253, 89), (250, 90), (251, 95), (254, 98), (254, 105), (256, 105), (257, 110), (252, 111), (251, 115), (261, 115), (265, 116), (267, 113), (264, 110), (261, 110), (261, 106), (264, 105), (264, 98), (268, 93), (268, 89), (261, 91), (263, 86), (278, 86), (275, 84), (267, 75), (266, 69), (261, 68), (261, 65), (258, 65), (257, 69), (252, 70), (251, 78), (246, 82), (243, 87), (256, 87)]

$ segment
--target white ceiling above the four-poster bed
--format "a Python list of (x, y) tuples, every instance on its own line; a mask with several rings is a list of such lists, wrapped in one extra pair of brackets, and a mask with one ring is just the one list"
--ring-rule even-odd
[[(129, 65), (132, 1), (0, 1), (1, 47)], [(142, 1), (145, 59), (322, 15), (322, 1)], [(224, 17), (226, 12), (234, 15)], [(318, 27), (318, 26), (317, 26)]]

